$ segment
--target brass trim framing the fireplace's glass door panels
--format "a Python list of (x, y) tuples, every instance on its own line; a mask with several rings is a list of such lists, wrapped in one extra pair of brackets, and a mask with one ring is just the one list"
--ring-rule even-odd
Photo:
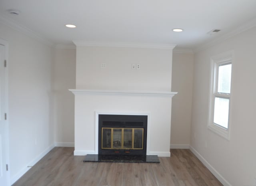
[[(103, 148), (103, 129), (111, 129), (111, 147)], [(102, 149), (114, 149), (113, 141), (114, 141), (114, 129), (121, 129), (121, 148), (124, 149), (124, 129), (132, 129), (132, 148), (125, 149), (134, 149), (134, 150), (143, 150), (144, 144), (144, 129), (143, 128), (110, 128), (110, 127), (102, 127), (101, 129), (101, 148)], [(142, 130), (142, 148), (134, 148), (134, 130)]]

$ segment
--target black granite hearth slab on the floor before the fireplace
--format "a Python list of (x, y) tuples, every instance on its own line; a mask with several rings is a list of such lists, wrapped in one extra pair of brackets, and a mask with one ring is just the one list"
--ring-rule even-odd
[(160, 163), (157, 155), (98, 155), (87, 154), (84, 162)]

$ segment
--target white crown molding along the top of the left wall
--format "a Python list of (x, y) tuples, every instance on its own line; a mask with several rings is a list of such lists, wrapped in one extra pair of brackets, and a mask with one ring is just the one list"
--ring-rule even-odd
[(0, 23), (18, 31), (21, 32), (23, 34), (25, 34), (26, 36), (29, 36), (30, 38), (33, 38), (43, 44), (46, 44), (50, 47), (53, 46), (53, 43), (50, 42), (49, 40), (43, 38), (42, 36), (40, 36), (39, 34), (37, 34), (36, 32), (30, 30), (29, 28), (27, 28), (26, 26), (23, 26), (21, 24), (18, 24), (16, 22), (14, 22), (13, 20), (10, 20), (8, 18), (5, 18), (3, 15), (0, 15)]

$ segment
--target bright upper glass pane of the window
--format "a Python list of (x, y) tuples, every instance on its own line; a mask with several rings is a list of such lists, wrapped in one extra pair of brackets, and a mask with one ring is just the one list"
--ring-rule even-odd
[(218, 92), (230, 93), (231, 84), (231, 64), (220, 65), (218, 74)]

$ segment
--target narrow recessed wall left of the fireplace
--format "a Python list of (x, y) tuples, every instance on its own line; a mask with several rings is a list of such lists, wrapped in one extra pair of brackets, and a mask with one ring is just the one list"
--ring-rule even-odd
[(74, 95), (76, 49), (54, 52), (54, 127), (56, 146), (74, 146)]

